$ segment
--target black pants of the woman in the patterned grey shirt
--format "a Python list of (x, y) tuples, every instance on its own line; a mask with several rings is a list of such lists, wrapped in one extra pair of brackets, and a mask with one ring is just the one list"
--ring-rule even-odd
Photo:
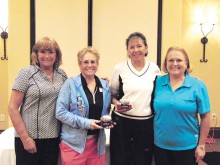
[(15, 138), (16, 165), (57, 165), (60, 138), (35, 139), (37, 153), (24, 149), (20, 138)]

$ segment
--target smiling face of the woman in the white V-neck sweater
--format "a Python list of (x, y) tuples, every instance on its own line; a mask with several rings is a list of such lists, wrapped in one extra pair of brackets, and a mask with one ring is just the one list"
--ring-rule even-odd
[(132, 61), (143, 61), (147, 53), (147, 46), (139, 37), (133, 37), (128, 42), (127, 47), (128, 56)]

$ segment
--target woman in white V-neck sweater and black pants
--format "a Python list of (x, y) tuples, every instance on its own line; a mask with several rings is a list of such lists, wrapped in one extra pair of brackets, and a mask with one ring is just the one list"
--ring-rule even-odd
[[(159, 67), (146, 59), (148, 45), (142, 33), (126, 40), (128, 60), (115, 66), (111, 78), (112, 119), (111, 165), (151, 165), (153, 155), (153, 112), (150, 106)], [(128, 109), (119, 109), (129, 104)], [(123, 106), (126, 107), (126, 106)]]

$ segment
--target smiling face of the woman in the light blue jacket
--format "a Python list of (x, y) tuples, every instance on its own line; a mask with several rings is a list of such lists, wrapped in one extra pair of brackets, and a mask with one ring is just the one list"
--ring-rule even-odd
[(85, 53), (80, 59), (79, 68), (83, 77), (94, 77), (98, 69), (97, 57), (91, 52)]

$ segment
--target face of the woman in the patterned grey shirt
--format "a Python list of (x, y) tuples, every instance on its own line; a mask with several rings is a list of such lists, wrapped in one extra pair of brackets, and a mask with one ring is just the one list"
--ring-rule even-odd
[(56, 60), (56, 51), (52, 50), (39, 50), (38, 51), (38, 62), (42, 69), (53, 69), (53, 65)]

